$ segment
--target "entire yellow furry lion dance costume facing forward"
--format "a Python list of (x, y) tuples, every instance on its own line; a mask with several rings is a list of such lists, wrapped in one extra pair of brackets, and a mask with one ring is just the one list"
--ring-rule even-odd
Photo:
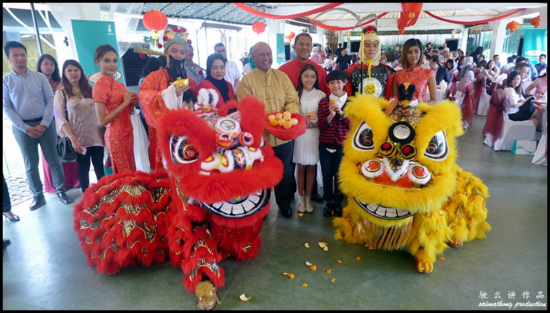
[(356, 95), (345, 109), (351, 130), (339, 174), (348, 198), (342, 217), (333, 219), (336, 239), (406, 248), (417, 270), (431, 273), (445, 248), (485, 237), (489, 194), (456, 165), (456, 137), (463, 135), (456, 104), (406, 100), (386, 116), (389, 104)]

